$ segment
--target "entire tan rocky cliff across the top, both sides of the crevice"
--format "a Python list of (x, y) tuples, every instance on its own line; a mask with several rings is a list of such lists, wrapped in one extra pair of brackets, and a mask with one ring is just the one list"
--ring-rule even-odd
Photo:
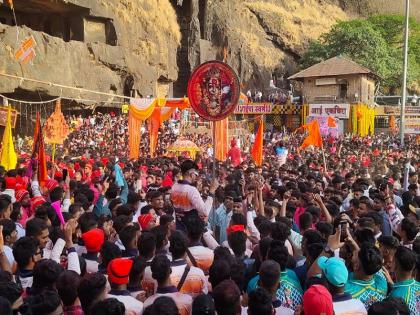
[[(396, 4), (396, 2), (400, 4)], [(287, 77), (308, 42), (338, 20), (403, 12), (394, 0), (0, 0), (0, 72), (129, 95), (183, 96), (200, 62), (226, 59), (244, 86)], [(420, 0), (412, 0), (414, 16)], [(4, 17), (4, 18), (3, 18)], [(64, 21), (64, 23), (63, 23)], [(20, 65), (19, 43), (34, 36), (36, 58)], [(281, 81), (281, 80), (280, 80)], [(0, 93), (80, 96), (0, 79)], [(92, 95), (82, 94), (84, 98)]]

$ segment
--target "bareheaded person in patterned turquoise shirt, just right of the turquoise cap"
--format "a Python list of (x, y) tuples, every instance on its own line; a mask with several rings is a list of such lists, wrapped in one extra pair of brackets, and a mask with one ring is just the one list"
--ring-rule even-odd
[(354, 260), (353, 273), (345, 285), (345, 293), (363, 302), (366, 309), (385, 299), (388, 291), (386, 278), (381, 273), (382, 255), (371, 243), (363, 243), (357, 260)]

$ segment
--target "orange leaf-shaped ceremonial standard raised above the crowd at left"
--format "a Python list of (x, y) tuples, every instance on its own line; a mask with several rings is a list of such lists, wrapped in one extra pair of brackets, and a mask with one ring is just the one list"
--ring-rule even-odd
[(54, 112), (44, 125), (45, 141), (51, 144), (63, 144), (69, 133), (69, 126), (61, 111), (61, 101), (57, 100)]

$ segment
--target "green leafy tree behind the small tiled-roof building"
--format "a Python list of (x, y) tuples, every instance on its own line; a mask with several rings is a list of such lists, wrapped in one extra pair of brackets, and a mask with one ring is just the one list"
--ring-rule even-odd
[[(408, 86), (420, 91), (420, 23), (410, 20)], [(382, 78), (385, 93), (401, 87), (404, 46), (404, 17), (378, 15), (337, 23), (318, 41), (310, 43), (300, 60), (307, 68), (325, 59), (345, 55), (373, 70)]]

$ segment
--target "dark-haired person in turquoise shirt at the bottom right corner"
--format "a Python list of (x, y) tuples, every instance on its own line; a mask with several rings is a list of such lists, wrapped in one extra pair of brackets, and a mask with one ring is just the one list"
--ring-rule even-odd
[(420, 314), (420, 283), (414, 277), (416, 254), (400, 246), (395, 253), (395, 274), (397, 282), (392, 286), (390, 297), (402, 298), (407, 304), (410, 315)]

